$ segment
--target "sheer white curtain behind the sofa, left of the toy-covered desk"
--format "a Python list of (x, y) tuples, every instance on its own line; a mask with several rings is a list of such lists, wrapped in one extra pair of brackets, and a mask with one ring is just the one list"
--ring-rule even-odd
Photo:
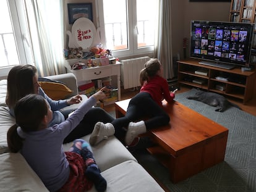
[(25, 0), (25, 7), (38, 75), (64, 73), (62, 0)]

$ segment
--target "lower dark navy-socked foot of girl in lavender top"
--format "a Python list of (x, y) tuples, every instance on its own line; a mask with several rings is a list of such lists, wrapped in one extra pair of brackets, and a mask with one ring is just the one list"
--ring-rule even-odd
[(103, 192), (106, 190), (106, 180), (100, 174), (100, 170), (97, 167), (87, 167), (85, 170), (85, 175), (91, 180), (98, 192)]

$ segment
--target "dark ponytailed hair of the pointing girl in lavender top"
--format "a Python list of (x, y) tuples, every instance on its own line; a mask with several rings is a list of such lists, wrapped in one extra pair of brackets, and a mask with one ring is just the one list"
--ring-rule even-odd
[(47, 112), (45, 98), (39, 94), (28, 94), (17, 102), (14, 108), (16, 123), (7, 131), (7, 144), (11, 152), (22, 149), (24, 139), (17, 133), (17, 128), (24, 132), (39, 130)]

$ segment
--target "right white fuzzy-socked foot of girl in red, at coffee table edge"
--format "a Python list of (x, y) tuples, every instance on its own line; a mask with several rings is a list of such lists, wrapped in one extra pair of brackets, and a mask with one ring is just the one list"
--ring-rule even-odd
[(130, 122), (127, 128), (126, 138), (124, 138), (124, 141), (129, 146), (130, 144), (132, 144), (132, 141), (134, 141), (134, 139), (138, 135), (146, 132), (147, 128), (143, 120), (137, 123)]

